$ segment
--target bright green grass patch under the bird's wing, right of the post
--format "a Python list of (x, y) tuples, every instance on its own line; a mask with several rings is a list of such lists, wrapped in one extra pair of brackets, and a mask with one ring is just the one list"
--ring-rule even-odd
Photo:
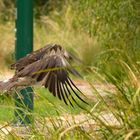
[[(38, 88), (35, 90), (37, 97), (35, 97), (35, 113), (41, 116), (58, 116), (59, 114), (70, 113), (77, 114), (83, 112), (78, 106), (67, 106), (60, 101), (58, 97), (54, 97), (44, 88)], [(81, 104), (83, 107), (86, 105)]]

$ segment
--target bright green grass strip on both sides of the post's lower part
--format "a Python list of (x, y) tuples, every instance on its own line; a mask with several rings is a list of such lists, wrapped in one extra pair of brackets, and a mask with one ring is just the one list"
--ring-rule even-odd
[[(51, 117), (59, 116), (62, 114), (78, 114), (84, 112), (77, 105), (74, 107), (67, 106), (63, 101), (60, 101), (58, 97), (54, 97), (51, 93), (48, 92), (45, 88), (36, 88), (34, 97), (34, 111), (33, 114), (39, 117)], [(80, 102), (79, 102), (80, 103)], [(80, 103), (83, 107), (86, 104)], [(14, 118), (14, 99), (12, 97), (7, 97), (1, 95), (0, 99), (0, 122), (10, 122)], [(89, 108), (90, 109), (90, 108)]]

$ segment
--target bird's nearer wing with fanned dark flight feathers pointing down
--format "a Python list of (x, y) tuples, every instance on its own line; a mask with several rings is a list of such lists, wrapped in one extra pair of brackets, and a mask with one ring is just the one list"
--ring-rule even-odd
[(69, 70), (64, 62), (65, 58), (61, 56), (50, 56), (28, 65), (15, 76), (35, 78), (36, 82), (40, 82), (42, 86), (48, 88), (54, 96), (63, 100), (65, 104), (73, 106), (71, 100), (78, 104), (74, 97), (78, 97), (81, 101), (85, 102), (78, 95), (81, 92), (70, 79)]

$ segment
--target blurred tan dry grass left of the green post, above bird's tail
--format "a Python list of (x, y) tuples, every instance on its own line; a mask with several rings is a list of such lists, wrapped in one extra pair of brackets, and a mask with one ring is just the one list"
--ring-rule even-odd
[(8, 65), (14, 58), (15, 32), (14, 24), (0, 24), (0, 69), (8, 70)]

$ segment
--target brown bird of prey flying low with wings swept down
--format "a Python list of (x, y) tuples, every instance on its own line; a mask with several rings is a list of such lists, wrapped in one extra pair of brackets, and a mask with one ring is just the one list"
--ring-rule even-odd
[(75, 97), (86, 103), (69, 75), (80, 76), (70, 64), (72, 59), (77, 58), (60, 45), (48, 44), (12, 64), (15, 75), (7, 82), (0, 82), (0, 89), (10, 91), (17, 87), (40, 84), (67, 105), (73, 106), (71, 100), (77, 104)]

